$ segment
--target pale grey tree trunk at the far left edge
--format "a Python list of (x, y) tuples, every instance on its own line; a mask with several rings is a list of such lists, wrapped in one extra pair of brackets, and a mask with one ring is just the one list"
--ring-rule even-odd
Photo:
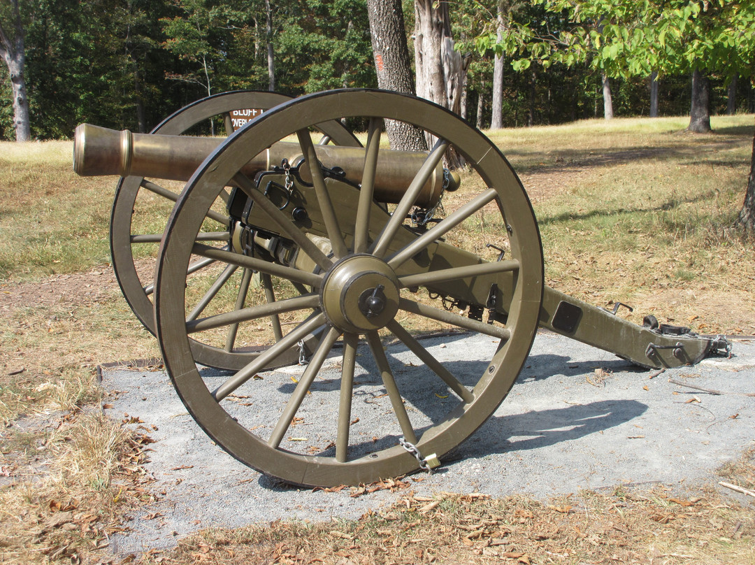
[(8, 66), (8, 76), (11, 79), (11, 92), (13, 94), (13, 127), (16, 131), (17, 141), (29, 141), (32, 138), (31, 123), (29, 120), (29, 97), (26, 95), (26, 79), (23, 75), (23, 67), (26, 64), (26, 51), (23, 45), (23, 25), (21, 14), (18, 10), (18, 0), (11, 0), (14, 20), (14, 37), (5, 33), (0, 25), (0, 54)]

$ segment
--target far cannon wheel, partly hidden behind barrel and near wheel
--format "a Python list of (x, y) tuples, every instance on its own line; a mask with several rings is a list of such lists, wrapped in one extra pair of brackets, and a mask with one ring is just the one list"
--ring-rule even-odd
[[(227, 134), (233, 133), (230, 125), (231, 110), (270, 108), (291, 98), (284, 94), (263, 91), (234, 91), (197, 100), (164, 119), (150, 133), (162, 135), (190, 134), (192, 128), (205, 120), (216, 116), (223, 118)], [(331, 141), (338, 145), (358, 147), (356, 140), (340, 123), (331, 122), (320, 126), (320, 130)], [(116, 196), (112, 203), (110, 215), (110, 250), (112, 267), (123, 295), (134, 310), (137, 318), (149, 332), (155, 333), (153, 311), (153, 280), (137, 273), (134, 266), (135, 256), (149, 255), (150, 250), (156, 251), (165, 221), (170, 215), (174, 202), (178, 199), (182, 184), (174, 181), (165, 182), (159, 179), (143, 177), (121, 178), (116, 188)], [(219, 195), (227, 196), (227, 194)], [(156, 210), (162, 208), (162, 216)], [(217, 208), (217, 207), (216, 207)], [(218, 236), (227, 232), (227, 215), (223, 215), (218, 208), (210, 215), (216, 219)], [(157, 217), (156, 217), (157, 216)], [(205, 263), (197, 262), (193, 268), (202, 267)], [(150, 270), (153, 273), (154, 270)], [(270, 289), (269, 289), (270, 290)], [(202, 342), (192, 340), (192, 350), (198, 363), (220, 369), (239, 369), (245, 366), (256, 353), (210, 347)]]

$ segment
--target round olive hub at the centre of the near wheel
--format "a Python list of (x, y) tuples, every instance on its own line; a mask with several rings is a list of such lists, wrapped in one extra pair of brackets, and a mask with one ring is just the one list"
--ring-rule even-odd
[(381, 329), (399, 311), (399, 279), (372, 255), (351, 255), (338, 262), (322, 285), (322, 310), (344, 332)]

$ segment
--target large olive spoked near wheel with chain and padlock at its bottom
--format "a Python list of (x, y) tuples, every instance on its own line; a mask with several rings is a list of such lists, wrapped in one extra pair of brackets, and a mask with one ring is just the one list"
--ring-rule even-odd
[[(354, 188), (356, 213), (344, 213), (344, 201), (335, 192), (339, 185), (331, 178), (323, 181), (319, 168), (310, 168), (331, 242), (332, 251), (323, 251), (307, 242), (311, 238), (306, 228), (271, 207), (261, 188), (240, 169), (248, 156), (294, 134), (307, 156), (312, 143), (308, 128), (314, 123), (354, 117), (367, 119), (370, 132), (362, 183), (359, 190)], [(385, 207), (371, 197), (383, 119), (416, 125), (440, 141), (412, 173), (393, 213), (386, 210), (381, 216), (378, 212)], [(425, 172), (448, 147), (470, 166), (461, 189), (453, 193), (455, 211), (446, 211), (445, 218), (428, 230), (412, 231), (405, 218), (414, 204), (413, 187), (422, 184)], [(267, 207), (282, 238), (300, 245), (300, 252), (316, 267), (304, 270), (270, 258), (223, 253), (220, 245), (208, 242), (195, 244), (200, 232), (208, 229), (202, 227), (208, 208), (229, 185), (240, 187), (255, 206)], [(451, 207), (450, 202), (447, 205)], [(491, 208), (497, 218), (492, 238), (508, 248), (505, 261), (478, 258), (474, 250), (464, 250), (468, 238), (456, 235), (464, 224), (485, 214), (490, 226)], [(374, 218), (384, 218), (384, 223), (375, 225)], [(440, 245), (445, 246), (444, 261), (405, 273), (407, 264), (421, 262), (427, 249)], [(228, 315), (217, 311), (187, 323), (193, 281), (186, 271), (196, 255), (266, 273), (274, 286), (294, 282), (309, 292), (282, 297), (272, 305), (230, 304)], [(455, 256), (460, 263), (445, 261)], [(459, 301), (451, 301), (452, 310), (444, 307), (450, 300), (444, 289), (461, 295), (472, 288), (472, 281), (485, 277), (510, 285), (505, 326), (458, 313), (464, 307)], [(485, 296), (490, 286), (485, 287)], [(425, 288), (433, 292), (426, 293)], [(492, 141), (427, 100), (385, 91), (331, 91), (291, 100), (264, 113), (218, 147), (196, 171), (175, 205), (159, 252), (156, 331), (181, 400), (231, 455), (298, 485), (369, 483), (420, 467), (411, 446), (400, 445), (400, 437), (421, 458), (441, 457), (495, 411), (529, 354), (542, 292), (543, 256), (532, 206)], [(231, 323), (258, 323), (273, 311), (294, 315), (294, 321), (286, 326), (284, 338), (263, 355), (230, 373), (197, 367), (190, 335), (196, 337), (202, 328), (211, 332)], [(467, 363), (439, 361), (420, 339), (422, 332), (439, 326), (447, 336), (470, 330), (490, 335), (489, 363), (469, 363), (476, 369), (470, 374)], [(312, 335), (319, 343), (299, 374), (289, 378), (283, 369), (263, 372), (266, 363), (285, 354), (291, 344)], [(454, 347), (453, 338), (448, 339), (447, 347)], [(389, 341), (405, 346), (416, 356), (414, 361), (399, 361)], [(265, 416), (271, 412), (276, 414), (273, 418)]]

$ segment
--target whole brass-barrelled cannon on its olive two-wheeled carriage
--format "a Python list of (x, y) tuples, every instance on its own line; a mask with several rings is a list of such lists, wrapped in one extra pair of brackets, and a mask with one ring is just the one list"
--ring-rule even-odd
[[(81, 174), (126, 175), (111, 227), (116, 274), (131, 277), (122, 289), (156, 333), (186, 409), (246, 465), (302, 486), (438, 465), (507, 396), (538, 328), (656, 369), (730, 349), (720, 336), (653, 316), (638, 326), (544, 285), (538, 224), (516, 173), (484, 134), (427, 100), (362, 89), (273, 96), (224, 140), (180, 135), (257, 95), (201, 101), (146, 136), (79, 126), (74, 150)], [(367, 125), (363, 147), (343, 119)], [(431, 149), (390, 150), (384, 120), (420, 128)], [(468, 170), (443, 168), (451, 150)], [(161, 175), (186, 181), (180, 194), (146, 180)], [(143, 190), (171, 208), (164, 230), (165, 218), (134, 229)], [(469, 243), (482, 224), (492, 248)], [(134, 279), (133, 249), (145, 243), (159, 245), (147, 285)], [(495, 341), (476, 372), (423, 342), (461, 332)], [(387, 354), (389, 341), (416, 356), (417, 370)], [(290, 381), (280, 371), (298, 364)], [(337, 378), (318, 379), (326, 366)], [(365, 372), (384, 394), (365, 398)], [(409, 379), (441, 387), (442, 402), (406, 394)], [(300, 442), (292, 430), (313, 403), (331, 418), (307, 421)], [(261, 405), (273, 421), (260, 420)], [(374, 434), (386, 418), (388, 431)]]

